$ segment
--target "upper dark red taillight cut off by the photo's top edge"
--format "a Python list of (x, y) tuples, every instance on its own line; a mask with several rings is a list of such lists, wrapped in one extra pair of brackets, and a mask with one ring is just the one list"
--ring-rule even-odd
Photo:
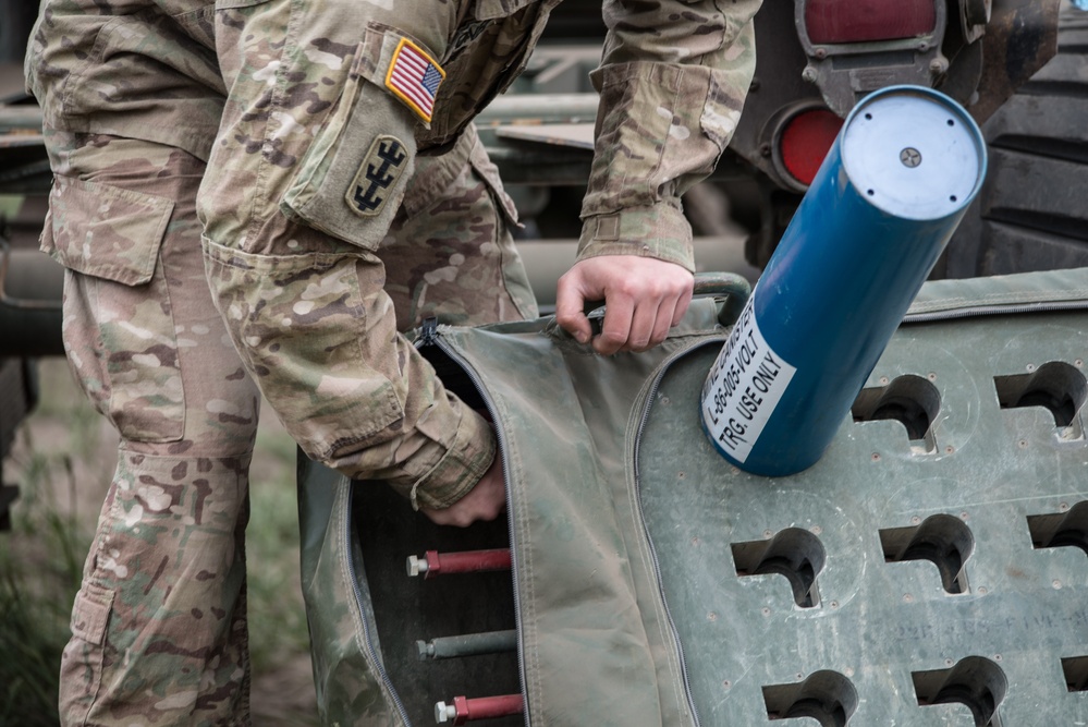
[(929, 35), (933, 0), (808, 0), (805, 29), (814, 45), (897, 40)]

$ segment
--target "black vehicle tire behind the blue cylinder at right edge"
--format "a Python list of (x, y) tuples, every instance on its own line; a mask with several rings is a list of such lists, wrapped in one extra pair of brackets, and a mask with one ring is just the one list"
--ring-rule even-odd
[(1058, 54), (987, 122), (989, 168), (934, 277), (1088, 266), (1088, 12), (1066, 4)]

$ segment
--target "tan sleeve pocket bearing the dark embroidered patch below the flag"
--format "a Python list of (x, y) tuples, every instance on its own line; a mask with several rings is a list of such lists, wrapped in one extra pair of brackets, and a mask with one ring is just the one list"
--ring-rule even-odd
[[(430, 51), (371, 23), (355, 51), (337, 108), (318, 130), (281, 201), (289, 219), (374, 251), (393, 221), (415, 168), (418, 108), (387, 76), (405, 46)], [(436, 71), (437, 73), (437, 71)]]

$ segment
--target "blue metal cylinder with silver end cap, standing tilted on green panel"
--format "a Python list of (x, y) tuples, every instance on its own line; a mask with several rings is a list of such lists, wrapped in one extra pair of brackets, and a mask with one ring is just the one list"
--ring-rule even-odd
[(858, 102), (704, 385), (726, 460), (782, 476), (820, 459), (985, 175), (982, 134), (943, 94)]

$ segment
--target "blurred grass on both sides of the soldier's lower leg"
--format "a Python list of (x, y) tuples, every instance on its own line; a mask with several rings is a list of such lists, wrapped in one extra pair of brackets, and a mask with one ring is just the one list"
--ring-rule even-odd
[[(41, 401), (3, 463), (20, 486), (0, 533), (0, 725), (57, 725), (72, 601), (115, 463), (117, 437), (60, 359), (42, 360)], [(248, 557), (253, 720), (317, 725), (298, 586), (294, 443), (265, 412), (250, 468)]]

